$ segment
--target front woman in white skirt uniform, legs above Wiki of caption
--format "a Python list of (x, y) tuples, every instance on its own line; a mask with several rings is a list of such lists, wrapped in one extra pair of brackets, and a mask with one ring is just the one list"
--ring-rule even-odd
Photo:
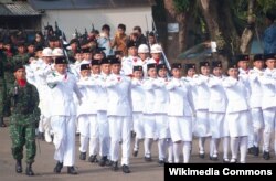
[(171, 65), (172, 78), (167, 84), (169, 92), (168, 117), (171, 139), (173, 141), (174, 163), (180, 162), (182, 146), (183, 162), (188, 163), (192, 145), (192, 115), (194, 111), (189, 82), (181, 79), (181, 64)]

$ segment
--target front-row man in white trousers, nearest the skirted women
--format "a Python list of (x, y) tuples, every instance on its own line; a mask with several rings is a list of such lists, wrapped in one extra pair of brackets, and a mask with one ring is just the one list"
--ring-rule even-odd
[(112, 58), (112, 74), (105, 86), (108, 96), (107, 117), (110, 135), (110, 160), (114, 171), (118, 170), (119, 146), (121, 141), (121, 170), (130, 173), (130, 126), (132, 119), (131, 82), (120, 74), (121, 64), (118, 58)]

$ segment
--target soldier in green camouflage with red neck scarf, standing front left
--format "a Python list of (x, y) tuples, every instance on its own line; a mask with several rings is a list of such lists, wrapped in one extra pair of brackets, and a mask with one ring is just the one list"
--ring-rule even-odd
[(35, 128), (38, 127), (40, 110), (38, 108), (39, 95), (36, 88), (25, 79), (25, 70), (22, 64), (14, 66), (15, 82), (9, 87), (10, 100), (10, 137), (12, 140), (12, 156), (17, 160), (15, 171), (22, 172), (21, 160), (25, 145), (26, 175), (34, 175), (32, 163), (36, 153)]

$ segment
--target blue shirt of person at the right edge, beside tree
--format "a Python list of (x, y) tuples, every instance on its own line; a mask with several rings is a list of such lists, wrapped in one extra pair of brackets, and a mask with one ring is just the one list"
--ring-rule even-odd
[(273, 23), (264, 32), (264, 53), (276, 53), (276, 24)]

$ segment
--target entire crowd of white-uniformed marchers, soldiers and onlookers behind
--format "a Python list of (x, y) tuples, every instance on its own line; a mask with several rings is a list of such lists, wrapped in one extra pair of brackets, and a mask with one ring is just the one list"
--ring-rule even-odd
[(152, 161), (152, 143), (158, 142), (160, 166), (190, 162), (194, 137), (199, 157), (209, 155), (214, 161), (220, 141), (223, 162), (245, 163), (247, 153), (259, 152), (268, 160), (273, 145), (276, 151), (276, 54), (254, 55), (252, 70), (250, 56), (240, 55), (226, 73), (221, 62), (203, 60), (197, 74), (195, 64), (173, 63), (169, 70), (161, 45), (147, 41), (139, 26), (130, 36), (124, 24), (115, 39), (109, 31), (103, 25), (98, 36), (88, 36), (81, 49), (72, 39), (70, 51), (54, 35), (47, 46), (33, 43), (29, 54), (17, 44), (19, 54), (2, 63), (10, 91), (0, 116), (11, 109), (17, 172), (22, 172), (25, 143), (25, 172), (34, 174), (35, 128), (55, 146), (55, 173), (67, 167), (67, 173), (77, 174), (75, 132), (79, 132), (81, 160), (88, 157), (114, 171), (120, 162), (124, 173), (130, 173), (130, 155), (138, 156), (142, 141), (146, 162)]

